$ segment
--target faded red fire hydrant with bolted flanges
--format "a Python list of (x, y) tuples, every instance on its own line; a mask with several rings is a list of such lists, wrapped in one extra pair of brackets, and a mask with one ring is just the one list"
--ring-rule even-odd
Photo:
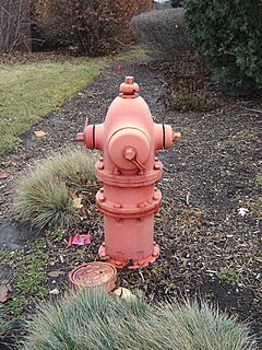
[(153, 122), (132, 77), (126, 77), (119, 90), (105, 122), (86, 124), (76, 140), (103, 152), (95, 165), (96, 177), (104, 184), (96, 194), (105, 225), (99, 257), (118, 268), (140, 268), (159, 255), (154, 242), (154, 213), (160, 207), (162, 194), (155, 183), (163, 175), (163, 164), (155, 151), (171, 148), (180, 133)]

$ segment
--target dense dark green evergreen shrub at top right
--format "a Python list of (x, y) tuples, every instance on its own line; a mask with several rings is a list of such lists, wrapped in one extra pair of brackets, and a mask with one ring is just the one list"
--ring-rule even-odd
[(262, 1), (186, 0), (189, 33), (234, 93), (262, 90)]

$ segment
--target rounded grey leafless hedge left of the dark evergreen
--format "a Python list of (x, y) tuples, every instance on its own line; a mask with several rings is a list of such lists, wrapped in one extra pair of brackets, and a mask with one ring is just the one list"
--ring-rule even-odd
[(155, 54), (172, 56), (192, 49), (187, 35), (182, 9), (157, 10), (141, 13), (132, 19), (136, 38)]

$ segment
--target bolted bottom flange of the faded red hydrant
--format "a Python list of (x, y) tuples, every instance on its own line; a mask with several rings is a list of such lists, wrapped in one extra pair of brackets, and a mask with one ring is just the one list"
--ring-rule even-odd
[[(105, 242), (99, 246), (98, 255), (99, 255), (100, 259), (105, 259), (106, 257), (108, 257), (106, 254)], [(130, 259), (129, 261), (121, 261), (121, 260), (114, 260), (108, 257), (108, 259), (106, 259), (106, 262), (115, 266), (118, 269), (121, 269), (126, 266), (129, 269), (138, 269), (138, 268), (145, 267), (145, 266), (148, 266), (150, 264), (154, 262), (158, 258), (158, 256), (159, 256), (159, 246), (156, 242), (154, 242), (152, 254), (146, 258), (142, 258), (136, 261), (133, 261), (132, 259)]]

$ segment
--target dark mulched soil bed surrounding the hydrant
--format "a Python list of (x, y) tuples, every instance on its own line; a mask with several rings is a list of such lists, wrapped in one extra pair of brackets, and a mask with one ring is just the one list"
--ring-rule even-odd
[[(168, 110), (165, 72), (156, 63), (146, 58), (121, 65), (121, 73), (117, 62), (111, 63), (86, 90), (21, 136), (15, 152), (0, 158), (0, 173), (9, 174), (0, 180), (4, 199), (0, 221), (7, 224), (15, 219), (10, 209), (15, 184), (28, 164), (68, 147), (84, 148), (74, 140), (86, 117), (91, 124), (103, 122), (124, 75), (133, 75), (154, 121), (171, 125), (182, 139), (172, 149), (157, 152), (165, 167), (157, 185), (163, 192), (163, 208), (155, 218), (160, 256), (147, 268), (120, 270), (120, 284), (140, 289), (153, 301), (204, 298), (249, 322), (261, 341), (262, 103), (221, 93), (221, 106), (212, 112)], [(34, 130), (47, 135), (36, 138)], [(242, 215), (240, 208), (248, 211)], [(61, 290), (68, 288), (68, 272), (75, 265), (98, 259), (103, 220), (95, 206), (91, 211), (88, 222), (69, 232), (91, 233), (91, 245), (68, 248), (64, 241), (47, 242), (48, 271), (64, 271), (63, 277), (50, 278), (50, 289), (53, 283)], [(28, 250), (33, 240), (29, 234)], [(19, 244), (26, 238), (22, 234)]]

